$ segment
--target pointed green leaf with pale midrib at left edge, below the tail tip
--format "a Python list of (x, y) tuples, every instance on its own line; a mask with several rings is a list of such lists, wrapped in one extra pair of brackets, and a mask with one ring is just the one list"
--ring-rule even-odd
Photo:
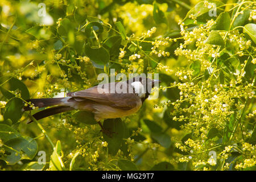
[(14, 130), (9, 125), (0, 124), (0, 139), (3, 143), (20, 136), (21, 135), (18, 133), (18, 131)]

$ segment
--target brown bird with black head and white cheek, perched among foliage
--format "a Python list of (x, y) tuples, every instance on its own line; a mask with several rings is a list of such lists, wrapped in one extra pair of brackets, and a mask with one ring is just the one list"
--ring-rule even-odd
[[(32, 115), (36, 120), (70, 110), (90, 111), (101, 126), (101, 131), (108, 133), (101, 121), (109, 118), (127, 117), (137, 113), (150, 95), (151, 89), (159, 83), (160, 80), (137, 76), (126, 81), (109, 82), (85, 90), (69, 92), (67, 97), (32, 98), (26, 100), (30, 105), (24, 106), (23, 111), (32, 110), (32, 107), (47, 107)], [(32, 120), (28, 123), (30, 122)]]

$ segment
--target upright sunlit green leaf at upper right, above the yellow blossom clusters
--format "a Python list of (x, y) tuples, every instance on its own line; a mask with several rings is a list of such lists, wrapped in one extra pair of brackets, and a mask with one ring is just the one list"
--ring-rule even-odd
[(229, 30), (229, 26), (231, 23), (231, 19), (228, 12), (223, 12), (220, 15), (218, 15), (218, 18), (216, 19), (213, 26), (210, 28), (210, 30)]

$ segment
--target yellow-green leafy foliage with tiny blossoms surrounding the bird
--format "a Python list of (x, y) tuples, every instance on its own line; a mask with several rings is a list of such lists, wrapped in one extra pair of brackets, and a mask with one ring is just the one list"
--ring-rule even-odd
[[(255, 16), (254, 1), (2, 0), (0, 169), (255, 170)], [(158, 100), (104, 121), (112, 137), (86, 111), (26, 123), (28, 98), (110, 69), (162, 81)]]

